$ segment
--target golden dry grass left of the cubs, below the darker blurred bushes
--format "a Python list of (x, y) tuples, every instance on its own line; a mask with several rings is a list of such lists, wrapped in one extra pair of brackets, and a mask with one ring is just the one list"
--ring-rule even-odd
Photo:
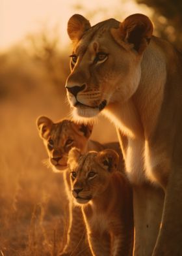
[(56, 255), (66, 227), (62, 177), (42, 164), (46, 154), (34, 115), (23, 106), (22, 112), (17, 106), (5, 106), (0, 135), (1, 251)]

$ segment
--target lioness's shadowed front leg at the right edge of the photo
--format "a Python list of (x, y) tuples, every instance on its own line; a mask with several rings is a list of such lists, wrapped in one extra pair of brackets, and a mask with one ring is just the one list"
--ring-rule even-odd
[(152, 256), (182, 255), (182, 168), (174, 167), (166, 187), (162, 225)]

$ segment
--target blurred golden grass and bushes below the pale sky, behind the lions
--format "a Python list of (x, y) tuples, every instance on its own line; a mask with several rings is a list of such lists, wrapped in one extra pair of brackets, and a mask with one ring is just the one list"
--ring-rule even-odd
[[(40, 114), (54, 121), (69, 114), (64, 89), (68, 60), (57, 49), (52, 53), (37, 59), (37, 49), (30, 55), (25, 49), (14, 48), (0, 56), (2, 256), (55, 256), (65, 242), (68, 202), (62, 176), (43, 165), (47, 155), (35, 125)], [(107, 131), (101, 134), (103, 125)], [(94, 138), (113, 140), (114, 128), (101, 120)]]

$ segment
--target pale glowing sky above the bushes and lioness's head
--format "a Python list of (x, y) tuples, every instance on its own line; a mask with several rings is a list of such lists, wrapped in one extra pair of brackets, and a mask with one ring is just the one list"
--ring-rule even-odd
[(42, 27), (57, 25), (62, 46), (68, 43), (66, 25), (75, 12), (90, 18), (92, 24), (107, 18), (122, 20), (125, 16), (141, 12), (150, 16), (151, 9), (137, 5), (134, 0), (1, 0), (0, 49), (18, 43), (25, 35)]

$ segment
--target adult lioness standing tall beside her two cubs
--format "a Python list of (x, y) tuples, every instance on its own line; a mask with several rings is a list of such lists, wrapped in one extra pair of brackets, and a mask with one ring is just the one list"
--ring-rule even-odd
[(181, 255), (182, 57), (152, 33), (143, 14), (93, 27), (73, 15), (66, 89), (77, 120), (103, 113), (117, 127), (134, 189), (135, 255)]

